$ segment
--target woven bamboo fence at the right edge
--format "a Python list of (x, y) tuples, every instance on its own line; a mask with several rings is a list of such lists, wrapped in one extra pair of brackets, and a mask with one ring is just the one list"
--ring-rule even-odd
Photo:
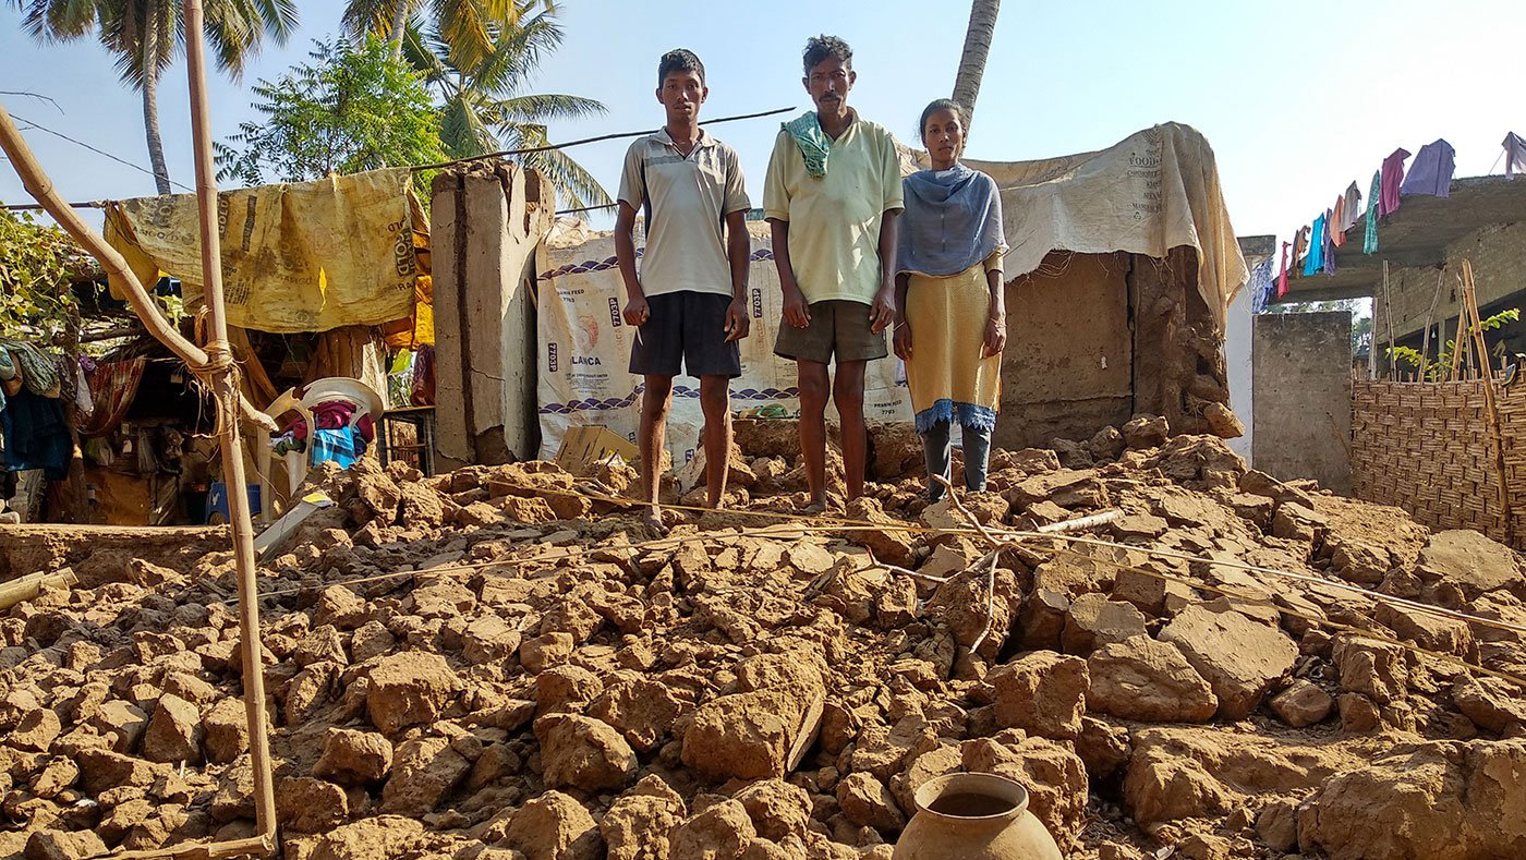
[[(1526, 549), (1526, 386), (1499, 389), (1514, 543)], [(1351, 471), (1358, 499), (1433, 529), (1508, 540), (1482, 381), (1352, 381)]]

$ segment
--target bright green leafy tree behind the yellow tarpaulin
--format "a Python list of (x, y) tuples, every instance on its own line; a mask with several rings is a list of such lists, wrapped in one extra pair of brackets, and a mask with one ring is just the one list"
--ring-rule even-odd
[(314, 44), (311, 63), (255, 84), (262, 119), (215, 145), (220, 180), (307, 181), (447, 159), (439, 110), (385, 41)]

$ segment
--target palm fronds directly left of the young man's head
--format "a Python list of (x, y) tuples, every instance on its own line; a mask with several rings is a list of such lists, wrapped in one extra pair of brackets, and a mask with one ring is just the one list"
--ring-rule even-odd
[[(528, 3), (520, 8), (528, 8)], [(443, 102), (439, 139), (452, 159), (546, 146), (548, 120), (604, 113), (603, 104), (583, 96), (520, 91), (540, 61), (562, 44), (562, 38), (555, 11), (548, 8), (514, 26), (497, 29), (490, 50), (479, 61), (462, 63), (439, 30), (421, 34), (417, 27), (407, 29), (403, 53)], [(610, 203), (598, 180), (560, 149), (526, 152), (519, 162), (545, 174), (572, 206)]]

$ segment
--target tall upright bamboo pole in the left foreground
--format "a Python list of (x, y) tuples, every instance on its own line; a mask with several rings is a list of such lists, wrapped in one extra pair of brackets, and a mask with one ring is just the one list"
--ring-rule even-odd
[(223, 247), (217, 223), (217, 172), (212, 166), (211, 108), (206, 98), (206, 43), (201, 0), (185, 0), (186, 76), (191, 84), (191, 137), (195, 152), (197, 204), (201, 215), (201, 284), (208, 311), (208, 357), (221, 363), (214, 372), (212, 395), (218, 403), (218, 436), (223, 448), (223, 480), (227, 483), (227, 514), (233, 528), (233, 561), (238, 569), (238, 628), (244, 651), (244, 711), (249, 715), (249, 755), (255, 772), (256, 836), (276, 845), (275, 776), (270, 765), (270, 732), (266, 720), (264, 666), (259, 660), (259, 592), (255, 579), (255, 528), (249, 518), (244, 477), (244, 447), (240, 441), (237, 404), (238, 367), (227, 343), (223, 306)]

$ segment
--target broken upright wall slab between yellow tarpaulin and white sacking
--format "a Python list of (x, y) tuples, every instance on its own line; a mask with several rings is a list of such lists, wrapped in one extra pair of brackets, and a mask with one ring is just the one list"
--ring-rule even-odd
[(436, 468), (537, 453), (534, 279), (554, 209), (549, 183), (508, 162), (435, 177)]

